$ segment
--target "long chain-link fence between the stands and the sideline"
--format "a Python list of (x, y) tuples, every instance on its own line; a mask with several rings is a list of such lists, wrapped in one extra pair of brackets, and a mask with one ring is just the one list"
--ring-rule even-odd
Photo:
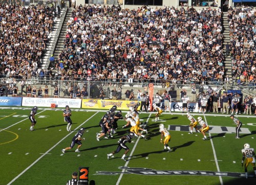
[[(125, 91), (129, 90), (134, 92), (135, 99), (137, 99), (138, 90), (142, 92), (148, 91), (148, 84), (154, 84), (154, 94), (156, 92), (162, 93), (163, 90), (177, 90), (179, 89), (186, 89), (189, 90), (193, 85), (196, 86), (197, 90), (207, 91), (208, 88), (212, 88), (217, 90), (218, 88), (224, 87), (225, 89), (236, 89), (242, 90), (244, 94), (247, 95), (255, 95), (256, 84), (254, 86), (249, 86), (249, 84), (238, 85), (235, 82), (187, 82), (187, 83), (172, 83), (170, 81), (157, 81), (154, 83), (152, 81), (124, 81), (121, 82), (113, 82), (109, 79), (104, 79), (98, 81), (98, 79), (87, 79), (87, 80), (61, 80), (57, 78), (51, 77), (43, 77), (35, 76), (30, 79), (15, 79), (15, 78), (2, 78), (1, 84), (7, 90), (10, 86), (17, 86), (18, 88), (18, 95), (26, 95), (27, 87), (29, 85), (35, 86), (37, 89), (41, 87), (42, 89), (45, 88), (47, 85), (49, 88), (49, 96), (53, 96), (54, 88), (57, 87), (59, 97), (66, 97), (66, 98), (75, 98), (76, 92), (78, 88), (80, 90), (84, 89), (87, 91), (86, 98), (90, 99), (99, 99), (100, 94), (103, 91), (104, 99), (112, 99), (112, 92), (113, 90), (117, 90), (118, 95), (117, 99), (124, 99), (125, 98)], [(22, 85), (23, 84), (23, 85)]]

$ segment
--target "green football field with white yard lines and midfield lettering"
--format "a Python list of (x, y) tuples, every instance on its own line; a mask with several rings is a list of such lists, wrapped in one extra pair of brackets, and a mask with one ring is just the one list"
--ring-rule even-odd
[[(236, 135), (229, 114), (191, 113), (210, 126), (207, 140), (201, 133), (188, 134), (189, 120), (185, 113), (163, 113), (155, 122), (155, 113), (140, 113), (141, 122), (148, 122), (147, 139), (133, 138), (127, 161), (121, 159), (124, 150), (107, 159), (116, 150), (119, 138), (129, 133), (122, 129), (125, 121), (118, 121), (113, 138), (96, 140), (101, 130), (98, 123), (106, 110), (72, 109), (72, 132), (60, 108), (38, 108), (34, 131), (28, 119), (31, 107), (0, 107), (0, 184), (66, 184), (79, 167), (89, 167), (89, 181), (95, 184), (256, 184), (254, 171), (248, 167), (244, 178), (241, 166), (245, 143), (256, 149), (256, 117), (239, 114), (243, 123), (240, 139)], [(123, 116), (126, 111), (123, 111)], [(163, 151), (159, 125), (172, 136), (172, 152)], [(85, 141), (79, 153), (77, 145), (65, 154), (73, 136), (81, 128)], [(198, 125), (199, 127), (199, 125)]]

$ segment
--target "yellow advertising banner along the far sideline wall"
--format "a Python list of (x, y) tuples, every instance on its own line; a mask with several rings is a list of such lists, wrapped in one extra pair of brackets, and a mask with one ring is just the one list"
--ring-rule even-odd
[[(133, 107), (137, 104), (137, 101), (118, 101), (118, 100), (82, 100), (82, 108), (96, 108), (96, 109), (110, 109), (114, 105), (117, 109), (129, 110), (129, 107)], [(139, 109), (140, 107), (138, 107)]]

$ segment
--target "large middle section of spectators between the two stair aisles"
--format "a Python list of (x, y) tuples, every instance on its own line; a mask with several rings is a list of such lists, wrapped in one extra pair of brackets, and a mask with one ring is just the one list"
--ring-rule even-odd
[(77, 6), (55, 67), (61, 79), (224, 80), (221, 9)]

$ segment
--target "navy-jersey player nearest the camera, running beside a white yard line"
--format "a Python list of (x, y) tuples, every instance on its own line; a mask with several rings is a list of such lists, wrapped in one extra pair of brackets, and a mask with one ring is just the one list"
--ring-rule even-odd
[(123, 148), (125, 150), (123, 156), (121, 157), (121, 159), (123, 159), (124, 161), (126, 161), (126, 159), (124, 158), (125, 155), (129, 152), (129, 148), (125, 145), (125, 143), (129, 142), (129, 143), (134, 143), (134, 141), (131, 141), (132, 138), (134, 137), (134, 133), (133, 132), (130, 132), (129, 135), (124, 135), (120, 138), (120, 140), (118, 140), (118, 147), (117, 149), (110, 153), (110, 154), (107, 154), (108, 155), (108, 159), (110, 158), (110, 156), (114, 155), (115, 153), (118, 153), (120, 152), (120, 150)]

